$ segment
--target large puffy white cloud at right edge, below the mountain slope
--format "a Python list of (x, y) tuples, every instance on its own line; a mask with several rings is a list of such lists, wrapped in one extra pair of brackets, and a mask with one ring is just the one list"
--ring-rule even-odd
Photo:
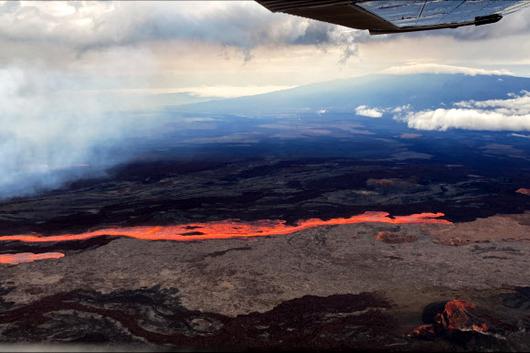
[(418, 130), (530, 131), (530, 93), (509, 99), (466, 101), (455, 108), (408, 112), (401, 118)]

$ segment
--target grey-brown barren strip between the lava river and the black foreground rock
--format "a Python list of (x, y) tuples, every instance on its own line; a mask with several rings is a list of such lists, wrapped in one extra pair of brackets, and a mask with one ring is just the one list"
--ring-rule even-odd
[[(284, 237), (186, 243), (118, 239), (60, 260), (4, 267), (14, 287), (4, 299), (27, 303), (73, 288), (109, 292), (130, 289), (131, 283), (158, 284), (178, 288), (190, 309), (238, 315), (311, 293), (526, 284), (521, 269), (530, 262), (530, 242), (452, 247), (432, 241), (428, 232), (440, 227), (452, 226), (341, 225)], [(374, 239), (381, 231), (418, 241), (387, 244)], [(499, 256), (506, 261), (496, 261)]]

